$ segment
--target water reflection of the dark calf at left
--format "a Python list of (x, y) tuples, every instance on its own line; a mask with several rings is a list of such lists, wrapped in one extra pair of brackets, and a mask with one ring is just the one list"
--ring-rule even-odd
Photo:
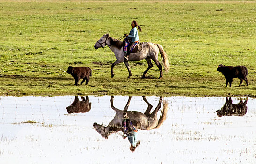
[(75, 96), (75, 100), (74, 102), (66, 107), (68, 113), (86, 113), (89, 112), (91, 110), (91, 104), (89, 103), (89, 97), (86, 96), (86, 100), (85, 97), (81, 96), (82, 101), (79, 100), (78, 96)]

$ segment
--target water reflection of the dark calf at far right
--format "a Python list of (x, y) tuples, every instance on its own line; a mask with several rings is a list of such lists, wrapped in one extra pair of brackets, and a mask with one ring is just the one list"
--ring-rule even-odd
[(243, 102), (243, 100), (241, 100), (238, 104), (232, 104), (232, 99), (231, 97), (228, 99), (226, 97), (226, 103), (223, 105), (223, 107), (220, 110), (217, 110), (217, 115), (218, 117), (222, 117), (222, 116), (244, 116), (247, 112), (247, 100), (248, 97), (246, 98), (246, 100)]

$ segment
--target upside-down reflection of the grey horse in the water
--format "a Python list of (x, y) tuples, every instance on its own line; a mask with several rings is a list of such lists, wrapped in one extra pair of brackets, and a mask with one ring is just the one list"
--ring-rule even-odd
[(168, 108), (168, 103), (166, 101), (163, 101), (163, 110), (161, 112), (160, 118), (157, 119), (157, 112), (161, 108), (162, 97), (159, 98), (159, 103), (156, 106), (155, 110), (152, 113), (150, 113), (153, 106), (149, 104), (146, 97), (143, 96), (143, 100), (148, 105), (147, 110), (146, 112), (144, 112), (144, 114), (137, 111), (127, 111), (131, 98), (132, 97), (129, 96), (128, 102), (124, 107), (124, 111), (122, 111), (114, 107), (113, 105), (114, 96), (111, 96), (111, 99), (110, 99), (111, 108), (116, 111), (116, 115), (114, 119), (106, 127), (104, 127), (103, 125), (99, 125), (96, 122), (93, 124), (93, 127), (97, 130), (99, 134), (102, 135), (102, 137), (108, 138), (108, 136), (111, 133), (122, 130), (121, 125), (124, 119), (124, 113), (127, 113), (127, 117), (131, 120), (132, 124), (136, 127), (136, 129), (151, 130), (151, 129), (159, 128), (163, 124), (163, 121), (166, 119), (167, 108)]

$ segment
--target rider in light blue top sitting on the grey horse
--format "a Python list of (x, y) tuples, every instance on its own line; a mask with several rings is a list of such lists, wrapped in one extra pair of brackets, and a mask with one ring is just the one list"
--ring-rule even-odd
[(138, 29), (141, 32), (141, 28), (136, 21), (132, 21), (131, 26), (132, 26), (132, 30), (130, 31), (129, 35), (124, 34), (126, 37), (131, 38), (131, 42), (129, 43), (129, 45), (127, 47), (127, 53), (124, 56), (125, 61), (128, 61), (128, 57), (131, 53), (132, 46), (134, 46), (135, 44), (137, 44), (139, 42), (138, 30), (136, 27), (138, 27)]

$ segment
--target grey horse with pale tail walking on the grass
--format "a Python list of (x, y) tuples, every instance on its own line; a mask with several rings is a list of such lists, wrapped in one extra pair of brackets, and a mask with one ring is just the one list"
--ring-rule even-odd
[(151, 59), (152, 59), (160, 71), (159, 79), (161, 79), (163, 77), (163, 73), (162, 73), (162, 65), (158, 61), (159, 52), (161, 54), (165, 71), (168, 72), (169, 70), (168, 55), (163, 50), (162, 45), (150, 43), (150, 42), (142, 43), (142, 50), (140, 52), (130, 53), (128, 61), (124, 61), (125, 52), (123, 51), (124, 44), (122, 41), (110, 37), (109, 34), (105, 34), (95, 43), (94, 48), (97, 50), (98, 48), (105, 48), (105, 47), (109, 47), (110, 50), (114, 52), (116, 56), (116, 61), (111, 65), (111, 78), (113, 78), (115, 75), (114, 67), (116, 66), (116, 64), (119, 64), (122, 62), (124, 62), (129, 72), (128, 78), (131, 78), (132, 73), (131, 73), (131, 69), (128, 61), (140, 61), (143, 59), (145, 59), (148, 64), (148, 68), (144, 71), (142, 75), (142, 78), (146, 78), (147, 71), (153, 67), (153, 64), (151, 62)]

